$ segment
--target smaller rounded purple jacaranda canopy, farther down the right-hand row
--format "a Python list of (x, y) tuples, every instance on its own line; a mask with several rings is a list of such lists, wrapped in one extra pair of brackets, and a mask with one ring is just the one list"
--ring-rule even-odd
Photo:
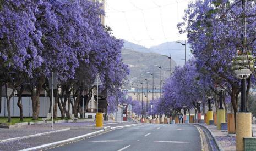
[(183, 106), (186, 106), (189, 114), (192, 107), (196, 113), (199, 111), (198, 101), (205, 103), (207, 93), (205, 86), (200, 83), (199, 75), (194, 59), (175, 69), (173, 76), (166, 80), (163, 88), (166, 110), (173, 109), (179, 114)]

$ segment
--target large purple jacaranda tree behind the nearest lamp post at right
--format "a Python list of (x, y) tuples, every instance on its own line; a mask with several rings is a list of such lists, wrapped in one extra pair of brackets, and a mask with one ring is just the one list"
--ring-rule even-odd
[[(178, 24), (182, 32), (187, 32), (188, 43), (193, 49), (197, 68), (209, 72), (215, 77), (214, 82), (227, 87), (235, 112), (238, 111), (237, 97), (240, 92), (239, 80), (232, 71), (231, 61), (241, 50), (241, 32), (243, 31), (239, 1), (195, 1), (188, 5), (184, 22)], [(248, 2), (246, 51), (255, 48), (255, 3)], [(186, 28), (182, 29), (186, 25)], [(250, 88), (250, 78), (247, 79)]]

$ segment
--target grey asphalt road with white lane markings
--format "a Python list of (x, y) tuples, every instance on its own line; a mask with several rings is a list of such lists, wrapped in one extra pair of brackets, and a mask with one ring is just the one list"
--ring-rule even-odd
[(117, 129), (50, 150), (201, 150), (198, 129), (189, 124), (142, 124)]

